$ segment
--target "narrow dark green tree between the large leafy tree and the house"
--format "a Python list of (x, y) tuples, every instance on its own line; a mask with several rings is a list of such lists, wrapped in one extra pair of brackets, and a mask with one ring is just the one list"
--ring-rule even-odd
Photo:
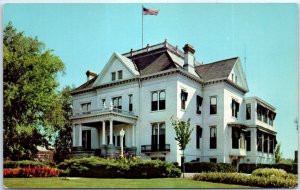
[(72, 145), (72, 122), (70, 116), (72, 115), (72, 98), (71, 91), (73, 87), (66, 86), (61, 92), (61, 105), (64, 110), (64, 127), (58, 130), (58, 136), (55, 140), (55, 154), (54, 160), (62, 162), (67, 158), (67, 153)]

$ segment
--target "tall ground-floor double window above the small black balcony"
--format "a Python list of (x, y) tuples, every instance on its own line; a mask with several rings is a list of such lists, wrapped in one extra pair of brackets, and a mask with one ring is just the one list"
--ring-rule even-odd
[(165, 123), (152, 124), (151, 149), (153, 151), (164, 151), (166, 144), (166, 126)]

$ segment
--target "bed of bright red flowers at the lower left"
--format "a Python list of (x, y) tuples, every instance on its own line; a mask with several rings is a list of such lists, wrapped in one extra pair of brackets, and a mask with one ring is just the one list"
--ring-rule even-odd
[(25, 168), (4, 168), (4, 177), (57, 177), (59, 176), (59, 170), (50, 167), (25, 167)]

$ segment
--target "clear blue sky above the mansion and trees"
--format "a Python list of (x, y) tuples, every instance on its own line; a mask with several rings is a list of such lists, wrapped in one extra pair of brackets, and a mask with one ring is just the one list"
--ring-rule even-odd
[[(100, 73), (111, 54), (142, 46), (141, 4), (6, 4), (3, 22), (37, 36), (66, 65), (61, 87), (79, 86), (85, 72)], [(203, 63), (239, 56), (250, 92), (277, 108), (284, 157), (298, 147), (297, 4), (144, 4), (144, 46), (168, 39), (196, 49)], [(246, 62), (245, 62), (246, 56)]]

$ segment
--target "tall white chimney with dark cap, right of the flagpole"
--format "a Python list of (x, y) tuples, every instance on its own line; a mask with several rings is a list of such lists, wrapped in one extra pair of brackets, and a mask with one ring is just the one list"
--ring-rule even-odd
[(197, 73), (195, 72), (195, 57), (194, 57), (194, 53), (195, 53), (195, 49), (193, 46), (191, 46), (190, 44), (185, 44), (185, 46), (183, 47), (184, 50), (184, 64), (183, 64), (183, 69), (188, 71), (189, 73), (192, 73), (196, 76)]

